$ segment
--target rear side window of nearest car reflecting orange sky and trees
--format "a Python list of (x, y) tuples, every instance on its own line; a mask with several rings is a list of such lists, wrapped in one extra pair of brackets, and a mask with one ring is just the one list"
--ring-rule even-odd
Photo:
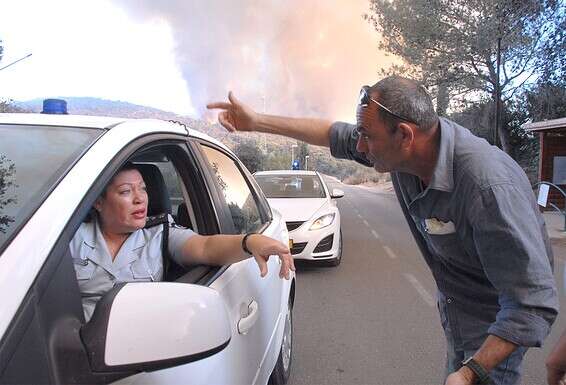
[(224, 194), (236, 231), (240, 234), (259, 231), (264, 223), (258, 204), (235, 161), (211, 147), (202, 146), (202, 149)]

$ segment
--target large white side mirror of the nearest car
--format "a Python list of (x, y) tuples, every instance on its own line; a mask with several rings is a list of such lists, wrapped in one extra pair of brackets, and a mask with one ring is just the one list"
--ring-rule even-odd
[(93, 371), (149, 371), (216, 354), (228, 346), (231, 332), (217, 291), (140, 282), (105, 294), (81, 337)]

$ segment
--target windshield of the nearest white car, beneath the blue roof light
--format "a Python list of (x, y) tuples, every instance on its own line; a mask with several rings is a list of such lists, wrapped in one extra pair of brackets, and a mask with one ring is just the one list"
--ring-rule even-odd
[(0, 252), (102, 133), (96, 129), (0, 125)]

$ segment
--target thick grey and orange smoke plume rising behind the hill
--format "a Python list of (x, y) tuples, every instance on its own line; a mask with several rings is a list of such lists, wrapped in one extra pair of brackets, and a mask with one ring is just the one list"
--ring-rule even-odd
[(115, 1), (171, 26), (201, 117), (232, 90), (257, 111), (353, 120), (359, 87), (393, 60), (362, 19), (368, 0)]

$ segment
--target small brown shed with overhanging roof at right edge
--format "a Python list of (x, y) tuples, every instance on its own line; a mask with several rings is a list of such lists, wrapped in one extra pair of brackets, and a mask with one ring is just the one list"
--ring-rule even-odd
[[(566, 118), (528, 123), (526, 130), (539, 134), (539, 182), (551, 182), (566, 190)], [(564, 197), (551, 188), (549, 202), (564, 208)]]

